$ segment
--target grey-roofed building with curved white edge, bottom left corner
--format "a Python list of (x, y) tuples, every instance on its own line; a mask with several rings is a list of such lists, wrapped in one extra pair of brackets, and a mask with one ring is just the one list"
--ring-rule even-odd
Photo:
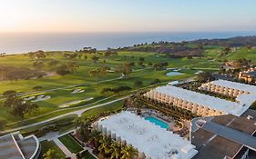
[(19, 132), (0, 136), (0, 159), (37, 159), (40, 144), (35, 135), (23, 137)]

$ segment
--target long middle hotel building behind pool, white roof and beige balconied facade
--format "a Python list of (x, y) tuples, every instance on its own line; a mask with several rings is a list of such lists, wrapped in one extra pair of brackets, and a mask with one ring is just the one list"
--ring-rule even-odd
[(144, 96), (160, 103), (172, 104), (201, 116), (234, 114), (240, 116), (248, 107), (207, 94), (192, 92), (176, 86), (166, 85), (155, 88)]

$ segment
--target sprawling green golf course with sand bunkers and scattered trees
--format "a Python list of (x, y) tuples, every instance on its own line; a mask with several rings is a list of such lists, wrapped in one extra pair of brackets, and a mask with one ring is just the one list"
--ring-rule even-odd
[[(195, 45), (188, 44), (188, 47), (193, 48)], [(28, 69), (44, 75), (29, 79), (2, 80), (0, 118), (6, 121), (5, 130), (8, 130), (95, 104), (104, 104), (139, 89), (187, 79), (197, 75), (199, 71), (218, 72), (225, 60), (247, 58), (256, 61), (253, 58), (256, 49), (239, 47), (229, 55), (220, 56), (222, 49), (222, 46), (207, 45), (202, 56), (192, 58), (172, 58), (166, 54), (138, 51), (117, 51), (108, 55), (106, 51), (89, 54), (38, 51), (37, 56), (31, 53), (1, 56), (2, 66)], [(39, 53), (43, 56), (39, 56)], [(72, 71), (65, 75), (57, 74), (58, 67), (66, 64), (71, 65)], [(165, 65), (156, 68), (158, 64)], [(167, 75), (169, 72), (180, 74)], [(10, 114), (9, 108), (5, 106), (5, 93), (8, 91), (15, 91), (20, 98), (38, 105), (38, 108), (26, 113), (23, 118)], [(108, 106), (104, 106), (104, 110), (108, 111)]]

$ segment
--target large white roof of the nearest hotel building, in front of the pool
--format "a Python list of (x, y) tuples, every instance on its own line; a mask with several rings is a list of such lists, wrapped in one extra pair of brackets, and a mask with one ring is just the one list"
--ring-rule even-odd
[[(152, 159), (190, 159), (197, 154), (195, 146), (188, 140), (130, 112), (108, 116), (98, 124)], [(171, 152), (175, 151), (178, 154), (174, 156)]]

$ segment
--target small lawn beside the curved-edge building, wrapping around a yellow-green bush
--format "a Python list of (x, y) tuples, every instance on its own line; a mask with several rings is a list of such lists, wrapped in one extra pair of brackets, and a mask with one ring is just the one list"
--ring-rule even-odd
[(58, 148), (58, 146), (53, 142), (53, 141), (43, 141), (40, 143), (41, 144), (41, 154), (39, 156), (40, 159), (43, 159), (43, 155), (46, 154), (46, 152), (49, 149), (53, 149), (56, 151), (57, 154), (59, 154), (59, 157), (61, 159), (64, 159), (66, 157), (66, 155), (60, 150), (60, 148)]

